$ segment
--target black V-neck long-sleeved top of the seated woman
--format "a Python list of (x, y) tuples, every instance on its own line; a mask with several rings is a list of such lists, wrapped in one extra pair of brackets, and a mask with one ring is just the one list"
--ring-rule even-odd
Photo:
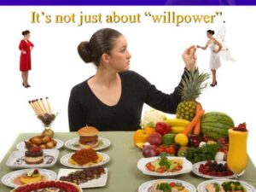
[[(186, 72), (187, 69), (182, 79)], [(70, 131), (78, 131), (85, 125), (95, 126), (99, 131), (135, 131), (140, 127), (144, 103), (165, 113), (176, 113), (181, 102), (181, 83), (168, 95), (133, 71), (119, 73), (119, 76), (122, 92), (114, 106), (104, 104), (94, 95), (88, 79), (73, 87), (68, 103)]]

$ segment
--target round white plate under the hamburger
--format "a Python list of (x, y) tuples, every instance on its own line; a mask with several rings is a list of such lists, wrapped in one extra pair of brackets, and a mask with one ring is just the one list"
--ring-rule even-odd
[[(94, 150), (102, 150), (103, 148), (108, 148), (111, 144), (111, 142), (107, 139), (107, 138), (103, 138), (103, 137), (99, 137), (98, 138), (99, 141), (99, 145), (96, 148), (93, 148)], [(73, 139), (69, 139), (66, 143), (65, 143), (65, 147), (78, 151), (81, 148), (79, 147), (79, 137), (75, 137)]]

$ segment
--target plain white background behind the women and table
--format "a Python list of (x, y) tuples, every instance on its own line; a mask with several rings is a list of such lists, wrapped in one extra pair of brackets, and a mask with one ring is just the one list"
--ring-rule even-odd
[[(145, 11), (160, 14), (176, 11), (179, 14), (214, 14), (222, 11), (213, 24), (154, 24), (148, 17), (140, 24), (32, 24), (31, 11), (46, 14), (143, 15)], [(35, 117), (28, 100), (49, 96), (52, 108), (59, 112), (54, 131), (68, 131), (67, 102), (73, 85), (79, 84), (96, 72), (91, 64), (84, 64), (77, 53), (81, 41), (89, 40), (96, 30), (113, 27), (125, 35), (131, 52), (131, 70), (142, 74), (159, 90), (171, 93), (183, 73), (181, 54), (191, 44), (205, 45), (206, 31), (225, 26), (227, 40), (235, 63), (222, 61), (218, 70), (218, 86), (208, 87), (200, 102), (206, 111), (228, 113), (235, 121), (247, 122), (250, 131), (247, 150), (256, 164), (255, 124), (255, 44), (256, 10), (252, 7), (1, 7), (0, 8), (0, 160), (20, 132), (41, 132), (43, 126)], [(32, 50), (32, 71), (29, 80), (32, 88), (21, 86), (19, 71), (21, 32), (29, 29)], [(198, 66), (210, 72), (209, 49), (199, 49)], [(143, 112), (148, 109), (145, 106)], [(171, 115), (172, 116), (172, 115)], [(118, 139), (118, 138), (117, 138)], [(132, 140), (131, 140), (132, 142)]]

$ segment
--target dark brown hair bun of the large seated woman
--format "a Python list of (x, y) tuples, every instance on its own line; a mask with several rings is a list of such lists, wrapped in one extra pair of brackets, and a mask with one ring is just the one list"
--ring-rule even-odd
[(79, 44), (78, 47), (79, 55), (81, 59), (84, 62), (92, 62), (93, 61), (93, 56), (92, 56), (92, 51), (90, 48), (90, 42), (89, 41), (83, 41)]

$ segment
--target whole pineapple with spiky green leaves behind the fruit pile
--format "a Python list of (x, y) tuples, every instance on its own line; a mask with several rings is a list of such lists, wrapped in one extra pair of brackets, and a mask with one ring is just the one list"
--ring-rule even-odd
[(207, 87), (205, 82), (209, 77), (209, 73), (199, 73), (198, 70), (192, 68), (190, 72), (187, 72), (186, 78), (182, 79), (182, 102), (177, 105), (177, 119), (191, 121), (195, 117), (195, 108), (198, 104), (196, 99), (201, 95), (201, 91)]

